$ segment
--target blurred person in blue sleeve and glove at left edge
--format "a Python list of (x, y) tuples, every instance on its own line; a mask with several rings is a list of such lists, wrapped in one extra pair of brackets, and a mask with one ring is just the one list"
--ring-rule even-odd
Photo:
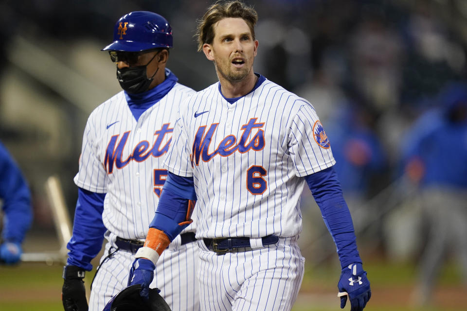
[(33, 218), (31, 192), (15, 160), (1, 142), (0, 201), (4, 214), (0, 263), (14, 264), (21, 259), (21, 242)]

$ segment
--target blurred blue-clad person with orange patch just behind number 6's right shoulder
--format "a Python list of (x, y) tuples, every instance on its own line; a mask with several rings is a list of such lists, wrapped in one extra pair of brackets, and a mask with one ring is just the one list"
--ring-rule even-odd
[(377, 207), (363, 208), (366, 200), (385, 186), (386, 158), (374, 131), (371, 109), (350, 102), (326, 125), (345, 200), (355, 215), (355, 228), (372, 222)]

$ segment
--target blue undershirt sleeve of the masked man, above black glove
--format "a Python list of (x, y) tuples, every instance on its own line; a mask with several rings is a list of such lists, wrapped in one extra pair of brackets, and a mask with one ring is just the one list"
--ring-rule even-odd
[(97, 256), (104, 242), (106, 227), (102, 221), (106, 193), (78, 189), (74, 212), (73, 235), (67, 244), (68, 265), (92, 270), (91, 259)]

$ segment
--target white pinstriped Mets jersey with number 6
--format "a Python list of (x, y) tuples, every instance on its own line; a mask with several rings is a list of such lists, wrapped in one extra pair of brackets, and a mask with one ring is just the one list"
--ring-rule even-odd
[(269, 80), (234, 104), (218, 86), (180, 106), (164, 162), (194, 177), (197, 238), (296, 236), (302, 177), (335, 164), (314, 107)]

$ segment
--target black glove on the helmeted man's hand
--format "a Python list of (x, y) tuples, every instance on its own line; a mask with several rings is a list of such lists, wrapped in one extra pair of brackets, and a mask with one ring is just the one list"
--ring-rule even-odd
[(88, 311), (88, 300), (84, 287), (83, 268), (65, 266), (63, 268), (62, 303), (65, 311)]

